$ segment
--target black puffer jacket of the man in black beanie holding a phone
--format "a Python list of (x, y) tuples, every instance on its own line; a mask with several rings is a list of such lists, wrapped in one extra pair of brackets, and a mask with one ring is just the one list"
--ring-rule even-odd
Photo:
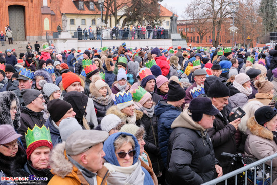
[(207, 132), (211, 137), (215, 156), (221, 164), (223, 174), (226, 174), (234, 170), (234, 165), (232, 165), (233, 159), (221, 156), (221, 153), (236, 153), (235, 134), (237, 130), (233, 125), (229, 124), (226, 108), (221, 111), (221, 114), (223, 117), (220, 113), (215, 115), (216, 119), (214, 120), (213, 127), (208, 129)]

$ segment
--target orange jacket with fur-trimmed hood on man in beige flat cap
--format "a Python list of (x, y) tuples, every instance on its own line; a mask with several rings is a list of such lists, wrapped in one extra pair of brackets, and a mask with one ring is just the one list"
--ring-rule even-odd
[[(49, 185), (55, 184), (68, 184), (68, 185), (89, 185), (83, 177), (81, 171), (73, 165), (66, 156), (65, 142), (59, 143), (51, 152), (50, 157), (51, 172), (54, 174), (53, 178), (48, 183)], [(104, 168), (104, 167), (103, 167)], [(96, 176), (97, 184), (107, 184), (106, 172), (98, 173)], [(96, 184), (95, 184), (96, 185)]]

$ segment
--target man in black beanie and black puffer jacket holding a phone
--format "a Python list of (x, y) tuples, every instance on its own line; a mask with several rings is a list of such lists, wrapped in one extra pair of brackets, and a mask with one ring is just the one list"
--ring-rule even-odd
[(221, 153), (228, 152), (235, 154), (237, 149), (235, 134), (238, 129), (238, 124), (240, 123), (240, 118), (232, 122), (228, 121), (228, 117), (233, 114), (233, 112), (231, 112), (230, 115), (228, 115), (225, 107), (228, 105), (230, 91), (228, 87), (218, 79), (210, 85), (207, 96), (211, 99), (213, 106), (220, 111), (215, 115), (213, 127), (208, 130), (208, 134), (211, 137), (215, 156), (221, 164), (223, 174), (227, 174), (233, 171), (235, 166), (232, 165), (232, 158), (221, 156)]

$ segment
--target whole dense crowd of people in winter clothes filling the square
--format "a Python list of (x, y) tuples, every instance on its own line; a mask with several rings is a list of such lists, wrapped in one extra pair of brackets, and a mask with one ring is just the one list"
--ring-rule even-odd
[(0, 53), (0, 184), (202, 184), (277, 152), (277, 45), (26, 49)]

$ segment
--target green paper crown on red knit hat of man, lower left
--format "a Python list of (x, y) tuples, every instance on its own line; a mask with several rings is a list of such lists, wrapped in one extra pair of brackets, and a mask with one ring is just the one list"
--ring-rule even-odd
[(44, 125), (41, 128), (39, 128), (35, 124), (35, 127), (32, 130), (28, 128), (27, 133), (25, 133), (25, 139), (27, 148), (32, 143), (40, 140), (46, 140), (52, 143), (50, 130), (49, 128), (47, 129)]

